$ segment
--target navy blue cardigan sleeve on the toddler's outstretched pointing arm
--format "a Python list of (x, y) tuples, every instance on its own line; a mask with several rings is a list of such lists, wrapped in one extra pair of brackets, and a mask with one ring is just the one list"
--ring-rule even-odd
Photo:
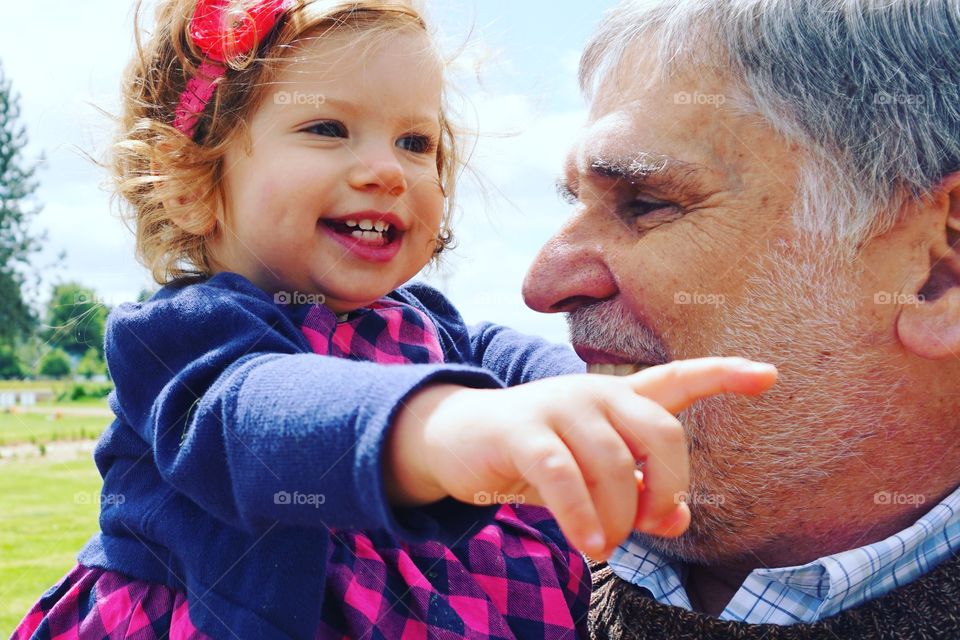
[(119, 307), (106, 351), (118, 417), (169, 484), (232, 526), (382, 528), (447, 542), (493, 517), (452, 499), (393, 510), (381, 470), (411, 394), (441, 382), (502, 386), (489, 372), (308, 353), (293, 322), (232, 275)]

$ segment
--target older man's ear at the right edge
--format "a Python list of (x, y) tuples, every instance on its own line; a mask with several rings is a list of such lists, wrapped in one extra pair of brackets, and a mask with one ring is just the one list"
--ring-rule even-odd
[(922, 358), (960, 357), (960, 172), (944, 178), (918, 208), (936, 225), (925, 240), (930, 265), (917, 303), (904, 306), (897, 319), (897, 334)]

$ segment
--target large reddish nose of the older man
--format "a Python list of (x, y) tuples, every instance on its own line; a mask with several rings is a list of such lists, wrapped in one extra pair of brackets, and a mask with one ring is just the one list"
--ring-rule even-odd
[(541, 313), (573, 311), (617, 294), (596, 227), (575, 219), (540, 250), (523, 282), (527, 306)]

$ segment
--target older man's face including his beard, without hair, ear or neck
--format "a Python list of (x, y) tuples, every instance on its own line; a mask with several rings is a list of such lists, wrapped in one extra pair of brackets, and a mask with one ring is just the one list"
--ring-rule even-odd
[(897, 380), (889, 318), (870, 311), (862, 265), (794, 230), (796, 149), (738, 115), (710, 74), (660, 82), (648, 61), (625, 67), (633, 81), (600, 87), (569, 155), (576, 209), (531, 267), (526, 301), (569, 312), (588, 363), (737, 355), (780, 368), (762, 398), (681, 416), (693, 525), (651, 541), (689, 559), (775, 558), (821, 526), (809, 504), (833, 494), (819, 481), (863, 464), (851, 460), (890, 392), (878, 382)]

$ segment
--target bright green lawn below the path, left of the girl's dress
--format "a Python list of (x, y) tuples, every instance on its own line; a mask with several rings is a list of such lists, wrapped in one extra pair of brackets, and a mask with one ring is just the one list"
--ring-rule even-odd
[(76, 460), (0, 463), (0, 638), (76, 562), (97, 530), (101, 480)]

